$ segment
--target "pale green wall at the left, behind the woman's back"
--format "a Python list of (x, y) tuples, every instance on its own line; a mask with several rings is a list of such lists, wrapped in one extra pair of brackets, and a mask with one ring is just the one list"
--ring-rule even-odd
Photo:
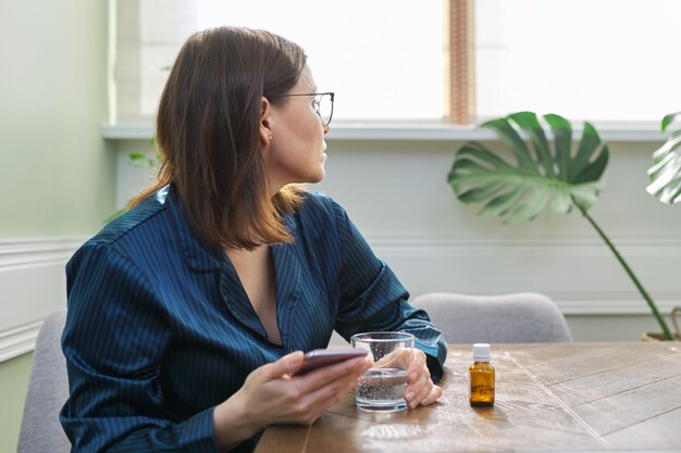
[[(107, 0), (2, 2), (0, 240), (94, 234), (114, 210), (107, 34)], [(0, 363), (0, 452), (16, 451), (32, 357)]]

